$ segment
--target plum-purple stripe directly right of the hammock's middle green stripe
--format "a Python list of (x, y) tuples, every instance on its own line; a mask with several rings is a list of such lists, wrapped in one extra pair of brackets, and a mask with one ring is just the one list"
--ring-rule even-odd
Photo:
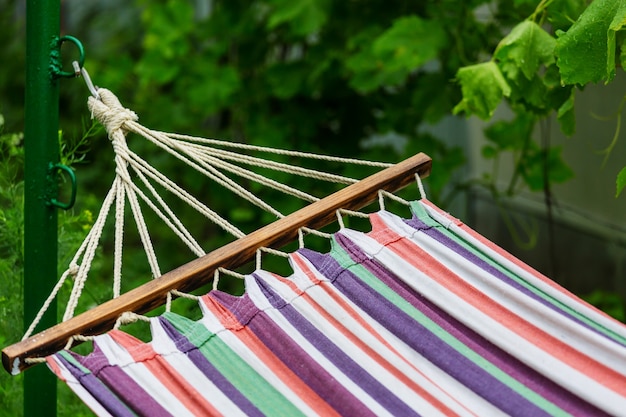
[[(416, 293), (406, 283), (380, 266), (379, 263), (367, 257), (366, 254), (345, 236), (337, 235), (336, 238), (355, 262), (363, 265), (414, 308), (421, 311), (430, 320), (457, 338), (469, 349), (491, 362), (494, 366), (500, 368), (523, 385), (570, 413), (582, 412), (586, 415), (604, 415), (602, 411), (598, 410), (593, 405), (585, 402), (563, 387), (557, 385), (543, 374), (520, 362), (517, 358), (498, 348), (489, 340), (480, 336), (457, 319), (441, 310), (428, 299)], [(336, 271), (341, 269), (339, 265), (331, 266), (332, 262), (328, 260), (325, 262), (329, 264), (327, 267), (329, 269), (335, 268)], [(329, 272), (332, 274), (331, 271)]]

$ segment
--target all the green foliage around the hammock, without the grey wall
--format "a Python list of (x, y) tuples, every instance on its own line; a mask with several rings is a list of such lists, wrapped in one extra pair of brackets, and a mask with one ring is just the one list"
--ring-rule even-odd
[[(83, 20), (73, 23), (72, 31), (85, 43), (86, 65), (94, 82), (114, 91), (143, 124), (385, 161), (424, 151), (435, 160), (428, 186), (429, 197), (438, 204), (454, 195), (451, 179), (465, 158), (461, 148), (427, 133), (425, 125), (437, 124), (453, 112), (488, 120), (506, 102), (514, 117), (486, 130), (488, 143), (482, 152), (494, 169), (481, 183), (497, 197), (523, 188), (546, 189), (566, 181), (572, 172), (560, 148), (537, 140), (536, 127), (556, 114), (562, 131), (573, 134), (575, 85), (610, 81), (613, 60), (626, 61), (621, 1), (595, 0), (589, 7), (586, 0), (137, 0), (119, 4), (119, 8), (93, 6)], [(209, 9), (202, 11), (201, 4)], [(15, 9), (12, 1), (0, 0), (0, 5)], [(488, 17), (481, 16), (485, 10)], [(0, 77), (0, 111), (19, 125), (23, 106), (15, 97), (22, 97), (24, 84), (23, 22), (8, 21), (10, 15), (0, 14), (5, 40), (0, 51), (5, 75)], [(562, 31), (558, 37), (557, 30)], [(484, 62), (490, 55), (492, 59)], [(78, 122), (81, 115), (88, 116), (84, 100), (75, 98), (86, 96), (84, 85), (72, 80), (61, 85), (63, 131), (69, 137), (87, 131), (82, 139), (61, 142), (63, 163), (78, 167), (80, 181), (79, 206), (60, 220), (60, 267), (65, 267), (110, 186), (113, 167), (109, 141), (102, 135), (88, 140), (98, 132)], [(383, 136), (405, 142), (365, 146), (369, 138)], [(21, 314), (14, 307), (21, 305), (21, 299), (11, 298), (21, 297), (21, 288), (15, 288), (21, 281), (14, 279), (21, 270), (21, 140), (19, 134), (2, 136), (2, 154), (13, 162), (0, 167), (0, 181), (6, 181), (0, 182), (0, 274), (7, 274), (0, 276), (0, 285), (11, 286), (0, 291), (0, 326), (6, 327), (0, 335), (11, 340), (21, 329), (15, 325)], [(132, 139), (129, 143), (138, 152), (145, 151), (174, 181), (210, 200), (216, 211), (241, 222), (242, 229), (254, 230), (266, 220), (219, 186), (202, 182), (142, 143)], [(505, 189), (498, 190), (496, 179), (505, 158), (513, 160), (512, 176)], [(363, 174), (338, 169), (345, 169), (346, 175)], [(622, 170), (618, 195), (625, 177)], [(278, 180), (291, 185), (297, 181), (289, 176)], [(255, 184), (246, 186), (261, 192)], [(271, 204), (284, 203), (273, 193), (263, 198)], [(173, 208), (182, 216), (190, 214), (188, 227), (207, 248), (226, 241), (201, 216)], [(140, 243), (130, 232), (124, 263), (130, 268), (125, 279), (133, 287), (149, 273), (142, 263)], [(164, 271), (190, 259), (190, 254), (170, 249), (169, 232), (160, 223), (151, 222), (150, 233), (167, 252), (160, 258)], [(103, 239), (104, 250), (110, 249), (111, 236)], [(110, 296), (111, 266), (96, 261), (95, 267), (95, 286), (88, 289), (79, 309)], [(67, 296), (69, 288), (63, 291)], [(1, 382), (5, 392), (12, 389)], [(11, 398), (19, 402), (19, 394)], [(19, 407), (7, 404), (6, 409)], [(65, 410), (67, 415), (82, 413), (69, 411), (70, 406)]]

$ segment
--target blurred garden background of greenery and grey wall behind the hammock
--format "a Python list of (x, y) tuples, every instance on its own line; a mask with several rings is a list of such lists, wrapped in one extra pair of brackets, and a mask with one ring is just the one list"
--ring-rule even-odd
[[(594, 3), (605, 26), (620, 13), (603, 0)], [(585, 0), (65, 0), (62, 32), (84, 44), (95, 84), (156, 130), (388, 162), (429, 154), (429, 199), (624, 320), (626, 205), (624, 196), (614, 197), (624, 165), (615, 157), (624, 148), (623, 71), (615, 79), (609, 71), (568, 81), (555, 57), (557, 42), (562, 54), (569, 47), (557, 32), (569, 31), (587, 6)], [(0, 0), (2, 346), (18, 340), (22, 329), (24, 7)], [(605, 26), (597, 31), (606, 38)], [(619, 60), (624, 37), (621, 27), (614, 32)], [(66, 69), (72, 52), (63, 47)], [(582, 56), (591, 58), (597, 60)], [(601, 80), (612, 82), (610, 93), (594, 85)], [(61, 81), (60, 146), (79, 179), (76, 206), (60, 213), (62, 269), (114, 173), (112, 149), (90, 121), (87, 95), (81, 80)], [(267, 223), (267, 215), (219, 186), (133, 138), (129, 143), (244, 231)], [(594, 152), (607, 143), (606, 152)], [(264, 198), (281, 203), (272, 193)], [(228, 240), (200, 216), (177, 209), (205, 249)], [(163, 271), (191, 259), (159, 222), (150, 223), (150, 232), (166, 254), (159, 258)], [(110, 235), (103, 237), (80, 309), (111, 297)], [(149, 277), (149, 269), (139, 238), (132, 230), (126, 236), (128, 289)], [(178, 308), (197, 314), (187, 304)], [(64, 387), (60, 392), (60, 415), (90, 415)], [(2, 373), (0, 414), (20, 410), (20, 378)]]

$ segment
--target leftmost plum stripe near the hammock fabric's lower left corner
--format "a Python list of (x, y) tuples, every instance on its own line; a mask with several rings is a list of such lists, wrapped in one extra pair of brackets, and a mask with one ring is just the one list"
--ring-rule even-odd
[(109, 363), (107, 357), (100, 350), (97, 340), (93, 344), (93, 352), (91, 354), (85, 357), (74, 355), (74, 357), (138, 415), (171, 416), (130, 375), (119, 366)]

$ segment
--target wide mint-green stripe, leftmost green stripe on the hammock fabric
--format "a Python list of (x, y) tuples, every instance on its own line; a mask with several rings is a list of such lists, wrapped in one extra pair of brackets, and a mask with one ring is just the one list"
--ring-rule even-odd
[(164, 313), (163, 317), (187, 337), (204, 357), (262, 413), (285, 417), (304, 415), (202, 323), (171, 312)]

